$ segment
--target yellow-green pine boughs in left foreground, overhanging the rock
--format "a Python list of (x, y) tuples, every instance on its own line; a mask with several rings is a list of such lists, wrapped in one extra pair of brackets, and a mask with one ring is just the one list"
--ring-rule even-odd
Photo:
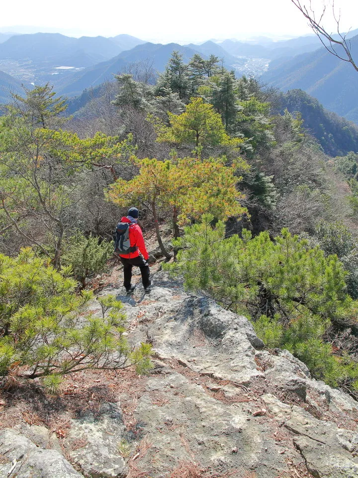
[(151, 366), (150, 346), (133, 350), (125, 337), (122, 304), (99, 299), (101, 316), (86, 314), (92, 294), (76, 294), (76, 281), (23, 249), (16, 258), (0, 254), (0, 375), (40, 377), (50, 389), (62, 377), (86, 368)]

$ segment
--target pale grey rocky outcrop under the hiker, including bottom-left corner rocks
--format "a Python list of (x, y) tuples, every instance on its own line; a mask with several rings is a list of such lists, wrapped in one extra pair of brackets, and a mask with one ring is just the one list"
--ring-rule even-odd
[(153, 343), (151, 374), (132, 389), (126, 381), (95, 416), (71, 419), (61, 446), (78, 471), (29, 430), (1, 432), (8, 462), (0, 470), (15, 458), (23, 464), (10, 476), (28, 477), (29, 457), (48, 454), (65, 467), (61, 477), (168, 478), (190, 467), (196, 475), (187, 477), (358, 477), (358, 403), (312, 379), (287, 351), (263, 349), (245, 317), (187, 294), (163, 272), (149, 294), (140, 286), (131, 297), (116, 286), (108, 293), (125, 304), (133, 344)]

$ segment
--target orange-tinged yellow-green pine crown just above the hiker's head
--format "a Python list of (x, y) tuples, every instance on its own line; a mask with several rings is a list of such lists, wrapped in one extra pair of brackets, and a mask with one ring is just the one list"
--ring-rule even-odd
[(135, 163), (139, 174), (129, 181), (118, 179), (107, 191), (107, 198), (118, 206), (141, 202), (175, 208), (181, 225), (205, 212), (220, 219), (246, 212), (240, 205), (244, 196), (236, 188), (241, 179), (235, 176), (237, 165), (226, 166), (225, 158), (146, 158)]

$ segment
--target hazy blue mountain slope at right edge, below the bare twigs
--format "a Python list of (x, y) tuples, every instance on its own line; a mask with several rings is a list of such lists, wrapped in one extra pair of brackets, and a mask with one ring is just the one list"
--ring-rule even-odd
[[(351, 39), (351, 51), (358, 61), (358, 35)], [(262, 79), (283, 91), (304, 90), (328, 110), (358, 123), (358, 73), (324, 47), (272, 61)]]

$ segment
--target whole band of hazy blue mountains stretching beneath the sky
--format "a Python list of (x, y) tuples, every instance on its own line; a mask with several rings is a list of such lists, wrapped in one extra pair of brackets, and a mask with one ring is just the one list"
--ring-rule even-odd
[[(145, 43), (130, 35), (112, 38), (71, 38), (56, 33), (13, 35), (0, 44), (0, 70), (25, 83), (53, 83), (57, 91), (75, 96), (125, 70), (133, 62), (151, 58), (154, 70), (162, 72), (174, 49), (181, 51), (186, 60), (195, 52), (205, 58), (214, 54), (224, 60), (226, 68), (240, 74), (259, 75), (269, 65), (264, 81), (273, 82), (283, 90), (303, 89), (325, 108), (355, 120), (357, 89), (353, 88), (352, 94), (351, 89), (357, 80), (347, 65), (344, 68), (322, 48), (307, 53), (308, 56), (292, 58), (296, 53), (319, 46), (317, 41), (314, 36), (308, 36), (266, 41), (263, 45), (225, 40), (180, 46)], [(355, 41), (352, 39), (353, 45)], [(185, 48), (188, 48), (186, 52)]]

